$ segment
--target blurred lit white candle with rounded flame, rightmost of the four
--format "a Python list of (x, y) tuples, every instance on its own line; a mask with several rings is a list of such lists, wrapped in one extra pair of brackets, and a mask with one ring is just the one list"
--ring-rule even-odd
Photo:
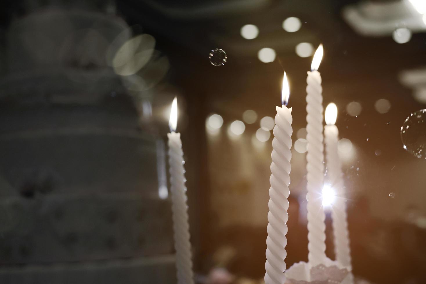
[(348, 221), (346, 217), (346, 202), (344, 184), (342, 179), (342, 166), (337, 151), (339, 130), (334, 125), (337, 119), (337, 106), (330, 103), (325, 109), (325, 152), (327, 161), (328, 182), (334, 189), (336, 198), (331, 207), (333, 220), (334, 252), (336, 261), (352, 270), (351, 250), (349, 248)]

